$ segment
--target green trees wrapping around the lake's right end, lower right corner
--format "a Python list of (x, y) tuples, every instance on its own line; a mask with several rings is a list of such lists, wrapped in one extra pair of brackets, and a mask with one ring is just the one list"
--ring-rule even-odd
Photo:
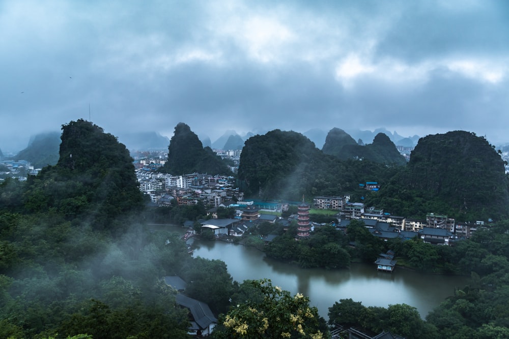
[(478, 230), (454, 246), (433, 246), (420, 239), (388, 245), (411, 267), (435, 272), (470, 274), (470, 283), (456, 290), (423, 322), (408, 305), (364, 307), (342, 299), (329, 308), (329, 323), (374, 332), (390, 330), (408, 337), (505, 338), (509, 335), (509, 234), (507, 222)]

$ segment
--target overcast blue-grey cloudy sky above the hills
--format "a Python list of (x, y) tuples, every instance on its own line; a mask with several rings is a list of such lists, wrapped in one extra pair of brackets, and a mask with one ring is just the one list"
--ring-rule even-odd
[[(89, 119), (509, 142), (509, 2), (0, 1), (0, 148)], [(19, 150), (18, 149), (18, 150)]]

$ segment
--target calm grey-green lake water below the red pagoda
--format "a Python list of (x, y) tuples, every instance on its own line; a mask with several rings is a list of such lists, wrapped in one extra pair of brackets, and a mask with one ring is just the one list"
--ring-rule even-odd
[(268, 278), (273, 285), (308, 296), (310, 303), (328, 320), (328, 307), (340, 299), (352, 298), (364, 306), (406, 303), (414, 306), (422, 318), (455, 287), (463, 288), (463, 276), (428, 275), (396, 268), (393, 273), (378, 272), (375, 265), (352, 264), (350, 269), (302, 269), (265, 257), (256, 249), (223, 241), (195, 240), (194, 257), (219, 259), (228, 266), (232, 278)]

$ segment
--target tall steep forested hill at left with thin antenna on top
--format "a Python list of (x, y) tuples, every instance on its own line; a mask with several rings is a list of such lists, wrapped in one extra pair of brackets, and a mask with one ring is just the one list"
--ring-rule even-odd
[(82, 215), (102, 229), (143, 207), (132, 158), (115, 136), (79, 119), (62, 126), (61, 139), (58, 163), (29, 177), (25, 209), (56, 209), (69, 219)]

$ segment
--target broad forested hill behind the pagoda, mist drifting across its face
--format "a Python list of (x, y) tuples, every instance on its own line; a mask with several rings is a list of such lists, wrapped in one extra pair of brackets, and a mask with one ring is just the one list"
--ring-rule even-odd
[(297, 132), (274, 130), (246, 140), (238, 178), (246, 196), (300, 200), (302, 195), (339, 195), (358, 184), (385, 180), (393, 167), (370, 161), (342, 161), (324, 154)]

